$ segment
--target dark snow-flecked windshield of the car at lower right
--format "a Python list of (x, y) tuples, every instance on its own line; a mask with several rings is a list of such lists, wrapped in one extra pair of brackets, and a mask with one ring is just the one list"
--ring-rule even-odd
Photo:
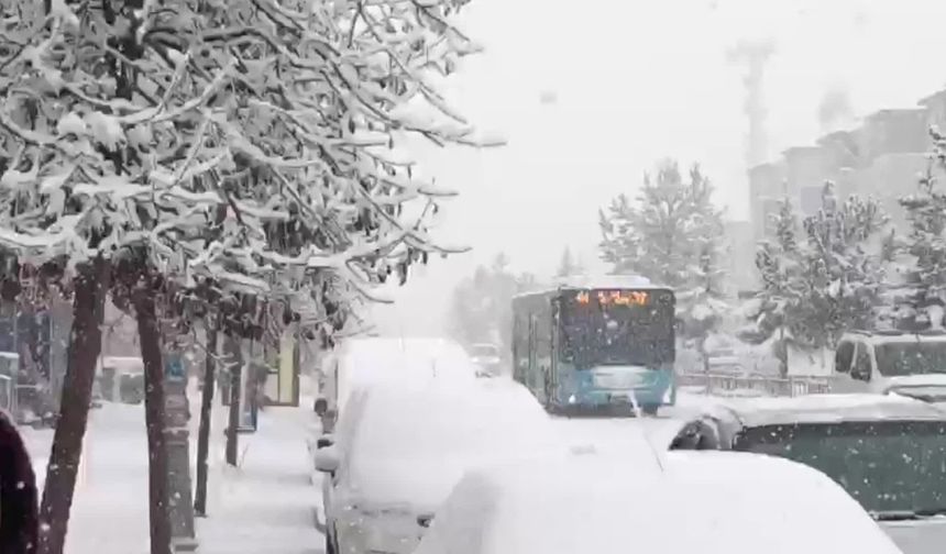
[(820, 469), (876, 514), (946, 510), (944, 422), (766, 425), (735, 447)]

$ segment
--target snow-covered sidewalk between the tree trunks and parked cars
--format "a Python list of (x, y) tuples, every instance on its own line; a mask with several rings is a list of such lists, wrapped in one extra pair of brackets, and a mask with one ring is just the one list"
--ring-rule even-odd
[[(224, 414), (215, 407), (209, 517), (197, 520), (201, 554), (322, 552), (324, 539), (312, 521), (317, 489), (309, 480), (306, 448), (311, 418), (305, 406), (267, 408), (257, 433), (240, 436), (241, 465), (232, 468), (222, 463)], [(53, 433), (26, 429), (23, 435), (42, 481)], [(195, 452), (191, 443), (191, 459)], [(66, 554), (147, 552), (144, 407), (106, 403), (90, 413)]]

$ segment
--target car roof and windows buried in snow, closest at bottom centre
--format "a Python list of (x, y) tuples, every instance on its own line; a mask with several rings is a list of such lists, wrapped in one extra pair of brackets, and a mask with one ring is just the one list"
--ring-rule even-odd
[(785, 459), (670, 452), (536, 458), (468, 473), (415, 554), (900, 554), (823, 474)]

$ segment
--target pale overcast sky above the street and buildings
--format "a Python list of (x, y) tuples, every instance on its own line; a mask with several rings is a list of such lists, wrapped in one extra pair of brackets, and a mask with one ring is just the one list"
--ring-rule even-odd
[(776, 42), (765, 81), (774, 157), (821, 135), (828, 90), (866, 115), (943, 88), (943, 21), (942, 0), (472, 0), (460, 22), (486, 52), (446, 93), (508, 146), (417, 149), (426, 174), (461, 192), (438, 236), (473, 251), (416, 272), (394, 307), (374, 310), (378, 325), (438, 333), (453, 285), (499, 251), (539, 275), (565, 246), (602, 268), (597, 209), (632, 195), (663, 157), (698, 162), (716, 200), (747, 218), (743, 70), (726, 56), (740, 38)]

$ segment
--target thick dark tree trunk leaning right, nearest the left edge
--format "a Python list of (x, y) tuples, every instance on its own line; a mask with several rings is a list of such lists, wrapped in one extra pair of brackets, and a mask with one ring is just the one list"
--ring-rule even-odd
[(62, 554), (65, 549), (76, 475), (82, 457), (82, 437), (89, 419), (96, 362), (102, 346), (101, 324), (109, 277), (110, 264), (101, 257), (80, 267), (76, 277), (69, 357), (40, 507), (37, 554)]

